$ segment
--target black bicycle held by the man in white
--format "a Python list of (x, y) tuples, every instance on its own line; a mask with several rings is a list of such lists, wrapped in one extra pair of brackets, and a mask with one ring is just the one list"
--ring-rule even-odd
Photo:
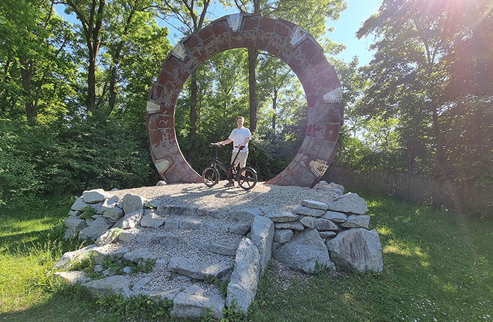
[(219, 182), (219, 171), (216, 168), (218, 166), (221, 170), (223, 170), (227, 175), (227, 181), (229, 183), (234, 184), (234, 180), (237, 180), (238, 185), (242, 187), (244, 190), (250, 190), (255, 187), (257, 183), (257, 172), (254, 168), (250, 168), (248, 166), (239, 169), (237, 173), (233, 171), (235, 161), (239, 155), (239, 151), (244, 149), (244, 146), (238, 147), (238, 153), (233, 159), (232, 163), (229, 166), (226, 166), (224, 163), (218, 160), (218, 150), (220, 145), (217, 143), (211, 143), (212, 147), (216, 147), (214, 149), (214, 159), (211, 163), (211, 166), (208, 166), (202, 172), (202, 180), (204, 180), (204, 184), (207, 187), (212, 187), (213, 185), (217, 185)]

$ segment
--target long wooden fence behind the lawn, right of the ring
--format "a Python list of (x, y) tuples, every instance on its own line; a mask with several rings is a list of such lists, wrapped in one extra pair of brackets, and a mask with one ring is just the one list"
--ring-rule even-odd
[(348, 188), (362, 188), (436, 208), (493, 218), (493, 186), (483, 189), (475, 187), (473, 182), (449, 182), (413, 173), (357, 173), (335, 166), (330, 166), (322, 179)]

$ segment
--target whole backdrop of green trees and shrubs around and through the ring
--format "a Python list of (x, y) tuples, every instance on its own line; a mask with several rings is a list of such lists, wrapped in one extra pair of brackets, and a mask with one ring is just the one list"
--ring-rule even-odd
[[(336, 59), (344, 44), (325, 37), (327, 19), (339, 18), (344, 0), (4, 0), (0, 204), (46, 197), (60, 185), (74, 193), (158, 180), (144, 111), (176, 40), (163, 25), (185, 37), (212, 20), (212, 5), (290, 20), (318, 39), (346, 104), (338, 165), (491, 187), (489, 0), (383, 0), (348, 35), (372, 39), (375, 55), (366, 66), (358, 57)], [(198, 172), (210, 159), (208, 142), (227, 137), (238, 115), (254, 131), (249, 162), (261, 180), (289, 163), (306, 132), (296, 75), (256, 49), (204, 62), (175, 111), (180, 148)]]

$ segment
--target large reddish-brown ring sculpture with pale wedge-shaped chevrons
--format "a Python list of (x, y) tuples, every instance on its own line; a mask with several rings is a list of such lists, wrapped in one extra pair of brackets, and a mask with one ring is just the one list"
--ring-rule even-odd
[(182, 39), (166, 57), (146, 106), (151, 156), (166, 182), (201, 182), (185, 161), (175, 134), (175, 104), (189, 75), (215, 54), (238, 47), (256, 48), (279, 57), (303, 85), (308, 127), (287, 168), (266, 183), (313, 187), (330, 166), (342, 124), (341, 85), (323, 49), (301, 27), (286, 20), (236, 13)]

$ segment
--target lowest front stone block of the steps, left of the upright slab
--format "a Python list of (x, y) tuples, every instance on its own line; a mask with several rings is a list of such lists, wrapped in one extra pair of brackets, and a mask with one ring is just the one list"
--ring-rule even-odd
[(210, 309), (212, 317), (219, 320), (223, 318), (224, 304), (222, 296), (218, 294), (206, 296), (201, 287), (192, 285), (175, 296), (171, 315), (196, 318), (205, 315), (207, 309)]

